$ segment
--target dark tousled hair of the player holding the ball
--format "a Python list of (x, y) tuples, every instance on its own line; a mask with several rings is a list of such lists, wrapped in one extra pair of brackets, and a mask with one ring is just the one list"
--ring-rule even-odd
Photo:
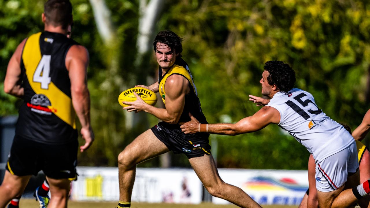
[(154, 51), (157, 50), (158, 42), (166, 44), (169, 48), (171, 48), (172, 51), (175, 51), (176, 54), (179, 54), (178, 57), (182, 56), (182, 38), (171, 30), (162, 30), (157, 36), (155, 36), (153, 43)]

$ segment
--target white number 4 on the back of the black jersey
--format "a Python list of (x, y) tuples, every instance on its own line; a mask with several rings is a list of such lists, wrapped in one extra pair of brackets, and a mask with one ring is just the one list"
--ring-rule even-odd
[(51, 82), (50, 74), (50, 55), (43, 55), (33, 74), (33, 82), (41, 83), (41, 89), (47, 90)]

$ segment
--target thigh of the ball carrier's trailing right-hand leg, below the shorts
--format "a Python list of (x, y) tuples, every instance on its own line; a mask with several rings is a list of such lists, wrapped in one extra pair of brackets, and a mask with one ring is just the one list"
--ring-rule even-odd
[(223, 183), (212, 155), (204, 154), (202, 157), (189, 158), (189, 162), (206, 188)]

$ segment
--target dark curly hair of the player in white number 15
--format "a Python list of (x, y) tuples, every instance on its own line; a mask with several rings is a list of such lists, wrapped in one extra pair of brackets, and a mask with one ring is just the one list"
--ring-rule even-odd
[(283, 93), (292, 90), (296, 83), (296, 73), (289, 64), (283, 61), (267, 61), (263, 68), (270, 73), (267, 77), (269, 85), (275, 84)]

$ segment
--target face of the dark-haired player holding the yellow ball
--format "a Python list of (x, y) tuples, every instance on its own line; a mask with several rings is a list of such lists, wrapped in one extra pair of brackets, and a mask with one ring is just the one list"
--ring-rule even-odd
[(162, 69), (170, 68), (176, 60), (176, 53), (172, 51), (167, 44), (157, 43), (155, 50), (155, 56), (157, 57), (157, 62)]

